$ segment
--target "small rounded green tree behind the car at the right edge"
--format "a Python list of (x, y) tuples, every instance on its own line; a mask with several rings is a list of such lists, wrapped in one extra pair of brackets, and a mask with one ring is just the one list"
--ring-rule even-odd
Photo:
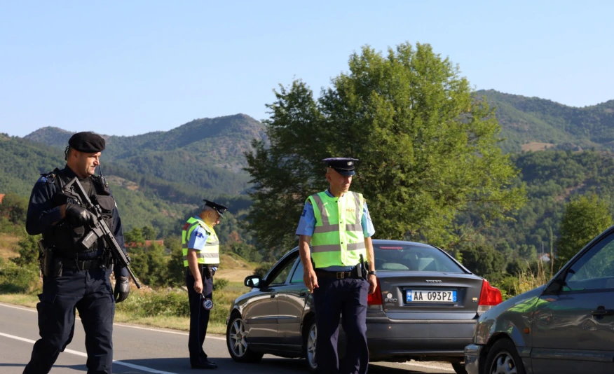
[(561, 268), (596, 235), (612, 226), (608, 203), (597, 195), (582, 195), (567, 203), (561, 221), (561, 236), (557, 248), (556, 266)]

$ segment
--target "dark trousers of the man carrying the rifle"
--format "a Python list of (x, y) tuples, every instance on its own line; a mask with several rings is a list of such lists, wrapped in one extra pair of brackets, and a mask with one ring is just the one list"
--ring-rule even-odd
[(86, 332), (88, 374), (111, 374), (113, 363), (113, 318), (115, 302), (109, 282), (110, 270), (69, 270), (61, 277), (44, 277), (39, 295), (39, 333), (24, 374), (46, 374), (57, 356), (71, 342), (75, 308)]

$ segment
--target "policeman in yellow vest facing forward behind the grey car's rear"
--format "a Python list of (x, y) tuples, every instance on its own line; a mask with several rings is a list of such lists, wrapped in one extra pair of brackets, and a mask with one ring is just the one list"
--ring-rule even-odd
[[(309, 196), (299, 221), (303, 280), (313, 293), (320, 374), (364, 374), (367, 348), (367, 293), (376, 287), (371, 223), (362, 194), (350, 192), (354, 158), (327, 158), (327, 191)], [(360, 255), (369, 261), (367, 280), (360, 277)], [(362, 270), (360, 270), (362, 272)], [(347, 335), (346, 356), (337, 353), (340, 314)]]

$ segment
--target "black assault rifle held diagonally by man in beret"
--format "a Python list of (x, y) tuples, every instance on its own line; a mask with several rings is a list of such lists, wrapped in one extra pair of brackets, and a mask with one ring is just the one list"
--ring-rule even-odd
[(97, 223), (95, 227), (85, 237), (83, 237), (83, 239), (81, 240), (81, 245), (83, 245), (84, 248), (90, 248), (92, 244), (94, 244), (94, 242), (99, 238), (104, 239), (104, 241), (107, 242), (107, 247), (111, 249), (111, 255), (113, 255), (113, 258), (115, 259), (116, 263), (128, 269), (128, 273), (130, 274), (132, 280), (135, 282), (137, 289), (140, 289), (141, 284), (139, 284), (137, 277), (135, 277), (135, 273), (133, 273), (130, 269), (130, 258), (125, 255), (125, 253), (119, 246), (119, 243), (115, 239), (115, 236), (111, 232), (111, 229), (109, 229), (107, 222), (105, 222), (102, 218), (102, 209), (100, 208), (100, 205), (94, 205), (92, 203), (92, 200), (90, 200), (86, 191), (83, 190), (83, 186), (81, 186), (81, 183), (79, 183), (79, 179), (77, 179), (76, 177), (69, 181), (69, 183), (66, 183), (62, 190), (64, 194), (72, 196), (73, 198), (76, 198), (76, 200), (79, 200), (79, 202), (81, 202), (81, 205), (83, 205), (86, 209), (88, 209), (96, 216)]

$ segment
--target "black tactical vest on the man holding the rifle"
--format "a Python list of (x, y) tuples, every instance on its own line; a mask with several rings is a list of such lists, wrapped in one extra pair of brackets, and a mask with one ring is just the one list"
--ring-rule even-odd
[[(66, 204), (67, 202), (79, 204), (78, 201), (74, 200), (73, 198), (68, 198), (62, 193), (62, 188), (64, 185), (71, 181), (71, 178), (62, 170), (55, 169), (53, 172), (47, 174), (47, 178), (53, 179), (53, 183), (57, 189), (57, 192), (53, 197), (55, 206), (60, 206)], [(80, 179), (79, 181), (83, 185), (83, 189), (86, 190), (86, 193), (88, 193), (93, 204), (100, 205), (102, 210), (102, 218), (112, 232), (115, 199), (113, 196), (111, 196), (111, 191), (109, 191), (109, 188), (105, 183), (103, 183), (100, 176), (90, 176), (87, 179)], [(62, 219), (55, 226), (43, 233), (43, 239), (49, 247), (53, 247), (53, 252), (56, 256), (76, 258), (79, 256), (79, 253), (104, 250), (107, 245), (104, 240), (99, 239), (97, 242), (94, 242), (90, 248), (83, 248), (81, 245), (81, 240), (83, 240), (83, 237), (86, 236), (89, 231), (89, 227), (73, 227), (70, 223), (68, 223), (67, 219)]]

